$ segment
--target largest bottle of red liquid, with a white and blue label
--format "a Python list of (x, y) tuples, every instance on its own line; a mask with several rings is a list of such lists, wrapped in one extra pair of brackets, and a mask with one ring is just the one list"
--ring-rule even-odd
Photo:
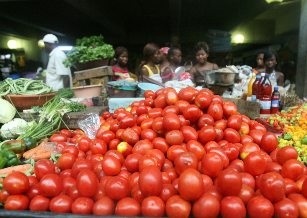
[(260, 114), (270, 114), (271, 113), (271, 94), (272, 85), (269, 80), (269, 75), (265, 75), (263, 82), (260, 86)]

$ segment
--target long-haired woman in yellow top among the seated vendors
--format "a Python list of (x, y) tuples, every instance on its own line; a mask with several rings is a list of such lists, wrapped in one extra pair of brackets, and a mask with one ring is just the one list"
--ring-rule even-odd
[(160, 74), (158, 63), (160, 62), (159, 46), (153, 43), (148, 43), (143, 50), (144, 60), (141, 62), (139, 69), (139, 81), (142, 81), (143, 76), (152, 76)]

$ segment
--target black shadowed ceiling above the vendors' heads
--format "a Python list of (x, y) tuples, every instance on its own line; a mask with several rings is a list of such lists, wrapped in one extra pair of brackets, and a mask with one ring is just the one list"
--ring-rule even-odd
[(51, 32), (71, 43), (97, 34), (109, 43), (162, 43), (172, 35), (194, 42), (270, 7), (265, 0), (0, 0), (0, 31), (38, 38)]

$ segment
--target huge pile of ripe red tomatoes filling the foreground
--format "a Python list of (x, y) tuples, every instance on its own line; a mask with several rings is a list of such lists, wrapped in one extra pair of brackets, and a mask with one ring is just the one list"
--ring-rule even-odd
[[(232, 102), (192, 87), (104, 112), (95, 139), (53, 135), (54, 164), (3, 180), (8, 210), (155, 217), (307, 217), (307, 167)], [(64, 142), (76, 143), (77, 146)]]

